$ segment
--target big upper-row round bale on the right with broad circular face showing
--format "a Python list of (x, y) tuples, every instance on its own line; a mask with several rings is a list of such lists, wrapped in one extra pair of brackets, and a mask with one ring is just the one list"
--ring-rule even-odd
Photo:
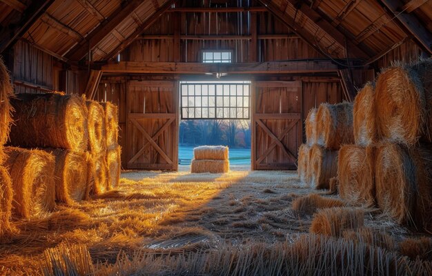
[(414, 146), (420, 136), (432, 131), (426, 126), (422, 81), (410, 66), (395, 65), (381, 72), (374, 99), (379, 139)]

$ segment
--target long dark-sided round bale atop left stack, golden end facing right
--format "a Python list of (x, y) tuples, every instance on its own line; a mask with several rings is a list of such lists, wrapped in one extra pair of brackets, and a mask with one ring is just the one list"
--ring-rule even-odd
[(19, 94), (11, 103), (15, 110), (11, 145), (87, 150), (87, 108), (81, 97), (61, 93)]

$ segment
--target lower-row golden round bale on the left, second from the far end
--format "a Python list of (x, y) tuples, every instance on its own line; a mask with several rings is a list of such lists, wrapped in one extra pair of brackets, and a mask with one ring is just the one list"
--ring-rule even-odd
[(106, 155), (90, 155), (88, 158), (88, 181), (86, 198), (101, 195), (108, 190), (108, 167)]

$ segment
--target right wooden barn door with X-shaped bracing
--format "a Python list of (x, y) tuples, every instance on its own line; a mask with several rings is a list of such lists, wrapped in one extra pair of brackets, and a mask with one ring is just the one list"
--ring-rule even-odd
[(302, 82), (257, 81), (252, 93), (252, 169), (296, 169)]

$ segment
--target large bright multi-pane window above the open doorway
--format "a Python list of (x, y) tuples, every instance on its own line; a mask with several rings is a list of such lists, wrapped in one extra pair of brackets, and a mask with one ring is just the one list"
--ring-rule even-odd
[(181, 119), (249, 119), (250, 82), (181, 82)]

